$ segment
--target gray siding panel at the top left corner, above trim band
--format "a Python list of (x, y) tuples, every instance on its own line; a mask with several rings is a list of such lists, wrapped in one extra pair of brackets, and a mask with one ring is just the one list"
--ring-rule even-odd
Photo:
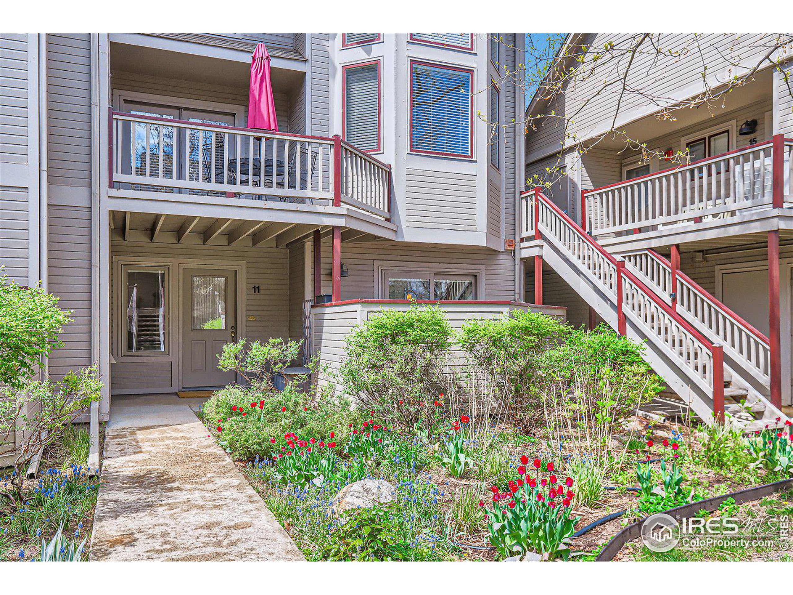
[(0, 33), (0, 162), (28, 163), (28, 36)]

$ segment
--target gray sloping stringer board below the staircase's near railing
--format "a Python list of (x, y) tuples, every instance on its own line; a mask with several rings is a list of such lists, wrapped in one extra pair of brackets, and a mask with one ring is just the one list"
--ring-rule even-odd
[[(580, 295), (611, 328), (617, 329), (616, 295), (609, 294), (603, 286), (565, 248), (554, 241), (554, 236), (543, 234), (542, 258), (551, 268)], [(666, 353), (668, 347), (649, 332), (632, 313), (626, 311), (626, 336), (630, 340), (642, 342), (645, 349), (642, 357), (653, 370), (664, 379), (668, 386), (688, 404), (707, 424), (714, 421), (713, 398), (707, 388), (700, 386), (698, 379), (689, 377), (674, 358)]]

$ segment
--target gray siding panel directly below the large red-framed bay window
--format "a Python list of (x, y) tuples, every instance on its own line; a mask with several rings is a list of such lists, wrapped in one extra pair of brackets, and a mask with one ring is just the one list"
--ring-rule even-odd
[(415, 228), (477, 229), (477, 175), (408, 169), (405, 222)]

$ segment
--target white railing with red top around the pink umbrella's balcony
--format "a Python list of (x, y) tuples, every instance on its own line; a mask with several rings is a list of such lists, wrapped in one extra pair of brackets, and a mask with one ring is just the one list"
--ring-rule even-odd
[(346, 204), (390, 217), (390, 166), (338, 136), (118, 112), (111, 114), (110, 126), (110, 173), (116, 188)]

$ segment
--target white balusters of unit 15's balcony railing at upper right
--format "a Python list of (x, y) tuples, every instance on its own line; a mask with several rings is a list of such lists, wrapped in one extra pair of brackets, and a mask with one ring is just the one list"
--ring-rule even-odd
[[(780, 140), (781, 136), (780, 136)], [(636, 229), (697, 223), (731, 217), (772, 205), (774, 176), (783, 182), (785, 202), (793, 201), (791, 146), (774, 171), (775, 141), (702, 159), (640, 178), (584, 192), (583, 226), (593, 236), (622, 235)]]

